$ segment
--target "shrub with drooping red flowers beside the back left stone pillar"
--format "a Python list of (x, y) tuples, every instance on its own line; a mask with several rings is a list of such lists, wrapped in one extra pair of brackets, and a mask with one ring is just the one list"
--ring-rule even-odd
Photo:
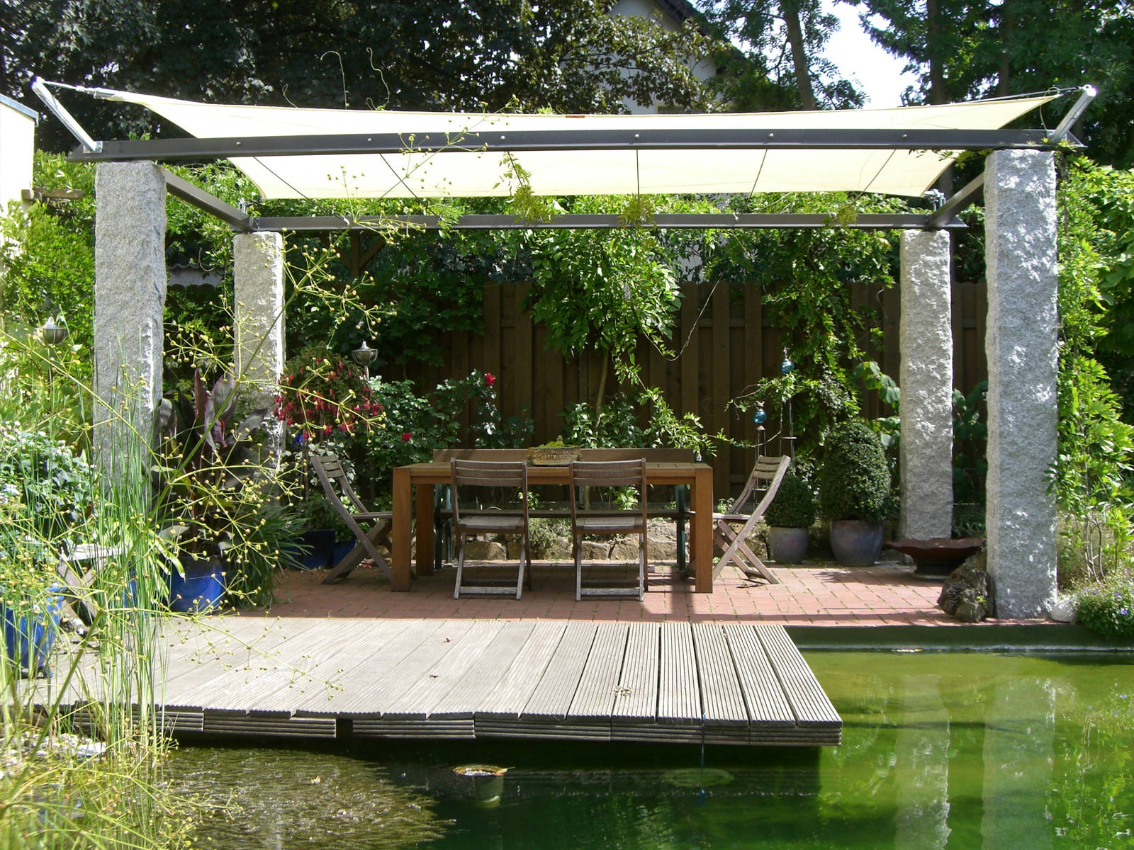
[(304, 442), (336, 431), (355, 434), (382, 416), (362, 372), (341, 357), (305, 349), (288, 362), (276, 397), (276, 416)]

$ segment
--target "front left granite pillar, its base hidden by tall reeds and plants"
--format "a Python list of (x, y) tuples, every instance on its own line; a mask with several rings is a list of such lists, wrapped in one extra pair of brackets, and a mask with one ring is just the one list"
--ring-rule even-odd
[(94, 195), (94, 450), (117, 481), (150, 468), (161, 400), (166, 179), (152, 162), (103, 163)]

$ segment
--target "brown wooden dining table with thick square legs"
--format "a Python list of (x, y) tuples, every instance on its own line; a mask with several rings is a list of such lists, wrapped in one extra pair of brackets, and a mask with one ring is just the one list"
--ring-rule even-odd
[[(650, 462), (646, 481), (658, 485), (689, 487), (689, 554), (694, 590), (712, 592), (712, 467), (700, 462)], [(433, 488), (448, 484), (449, 464), (426, 461), (399, 466), (393, 470), (393, 528), (390, 532), (391, 589), (409, 590), (409, 543), (413, 521), (417, 520), (416, 573), (433, 572)], [(528, 486), (566, 485), (567, 466), (530, 466)]]

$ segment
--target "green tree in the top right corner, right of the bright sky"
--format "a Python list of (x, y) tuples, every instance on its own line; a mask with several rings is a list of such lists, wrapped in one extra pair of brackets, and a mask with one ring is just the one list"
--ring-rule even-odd
[(1131, 0), (840, 1), (857, 6), (871, 37), (919, 75), (907, 103), (1094, 84), (1081, 137), (1094, 159), (1134, 164)]

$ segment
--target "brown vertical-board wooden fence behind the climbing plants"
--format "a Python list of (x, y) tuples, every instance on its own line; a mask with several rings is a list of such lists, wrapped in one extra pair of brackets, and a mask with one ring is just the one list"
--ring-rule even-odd
[[(853, 284), (852, 300), (872, 324), (881, 328), (881, 346), (863, 345), (882, 371), (898, 377), (899, 297), (896, 287), (883, 289)], [(425, 385), (446, 377), (462, 377), (474, 368), (497, 376), (501, 414), (524, 411), (535, 422), (535, 443), (555, 440), (562, 431), (560, 414), (576, 401), (593, 403), (601, 377), (598, 355), (565, 359), (547, 347), (547, 329), (534, 324), (523, 309), (523, 283), (489, 283), (484, 290), (484, 334), (457, 332), (437, 340), (445, 366), (422, 367), (409, 374)], [(778, 375), (784, 359), (780, 334), (765, 321), (761, 290), (746, 287), (689, 286), (682, 300), (680, 318), (671, 338), (676, 356), (665, 357), (643, 346), (638, 351), (646, 385), (661, 388), (678, 414), (694, 413), (709, 433), (754, 444), (756, 426), (751, 414), (727, 409), (727, 402), (752, 388), (764, 375)], [(955, 283), (953, 288), (954, 385), (968, 392), (987, 379), (984, 360), (984, 283)], [(865, 339), (869, 339), (866, 334)], [(789, 352), (790, 354), (790, 352)], [(607, 397), (618, 391), (608, 376)], [(864, 393), (870, 417), (887, 410), (872, 393)], [(780, 432), (779, 411), (768, 410), (765, 434)], [(772, 442), (772, 451), (778, 444)], [(712, 459), (717, 498), (737, 492), (747, 477), (754, 450), (728, 448)]]

